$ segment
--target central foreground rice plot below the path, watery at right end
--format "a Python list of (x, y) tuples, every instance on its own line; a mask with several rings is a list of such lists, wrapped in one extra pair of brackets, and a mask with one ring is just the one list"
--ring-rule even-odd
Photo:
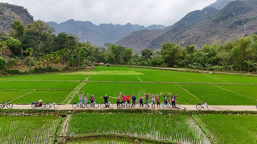
[(202, 133), (197, 126), (189, 123), (190, 119), (188, 115), (84, 113), (71, 116), (66, 133), (70, 136), (118, 133), (181, 143), (201, 143)]

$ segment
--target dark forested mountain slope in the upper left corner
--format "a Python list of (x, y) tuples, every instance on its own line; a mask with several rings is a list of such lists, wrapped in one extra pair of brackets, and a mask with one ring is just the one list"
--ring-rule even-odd
[(23, 6), (0, 3), (0, 31), (8, 32), (14, 20), (20, 21), (25, 27), (34, 22), (33, 16)]

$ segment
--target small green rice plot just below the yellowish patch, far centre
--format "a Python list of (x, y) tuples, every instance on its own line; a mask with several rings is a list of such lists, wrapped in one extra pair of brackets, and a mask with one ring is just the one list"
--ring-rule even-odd
[(141, 82), (135, 75), (92, 75), (88, 81)]

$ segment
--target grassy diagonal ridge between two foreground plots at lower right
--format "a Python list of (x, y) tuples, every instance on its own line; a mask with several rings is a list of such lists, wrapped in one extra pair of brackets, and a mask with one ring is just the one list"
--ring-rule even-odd
[(201, 120), (201, 118), (197, 115), (191, 115), (194, 119), (194, 121), (196, 121), (196, 123), (199, 125), (199, 127), (201, 128), (201, 130), (204, 132), (204, 134), (206, 135), (206, 137), (210, 140), (210, 142), (212, 144), (218, 144), (217, 142), (217, 138), (212, 135), (212, 133), (210, 132), (210, 130), (206, 127), (206, 125), (204, 124), (204, 122)]

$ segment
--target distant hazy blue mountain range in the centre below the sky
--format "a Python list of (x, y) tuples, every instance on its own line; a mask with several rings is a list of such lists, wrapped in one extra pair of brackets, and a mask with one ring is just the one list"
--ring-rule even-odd
[(95, 25), (90, 21), (75, 21), (70, 19), (66, 22), (57, 24), (56, 22), (47, 22), (50, 26), (56, 29), (56, 34), (60, 32), (73, 33), (79, 37), (81, 41), (91, 42), (93, 45), (100, 46), (105, 43), (115, 43), (119, 39), (127, 36), (131, 32), (142, 30), (142, 29), (163, 29), (163, 25), (151, 25), (148, 27), (140, 26), (138, 24), (126, 25), (120, 24), (100, 24)]

